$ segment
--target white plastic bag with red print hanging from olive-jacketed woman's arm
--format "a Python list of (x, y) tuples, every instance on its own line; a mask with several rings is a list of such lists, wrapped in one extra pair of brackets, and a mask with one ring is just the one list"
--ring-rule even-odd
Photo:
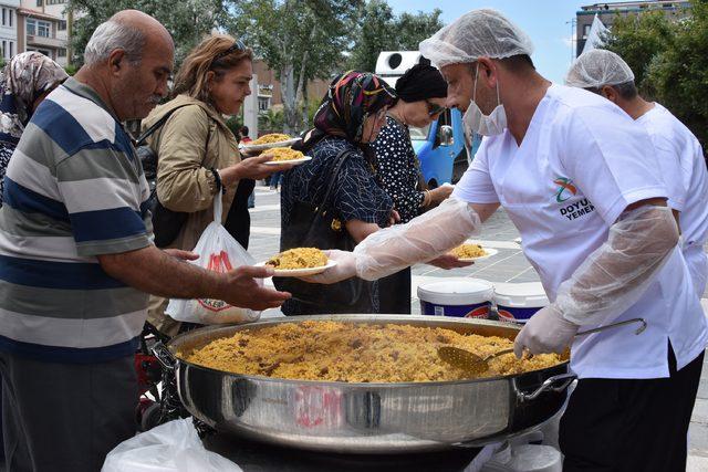
[[(216, 272), (228, 272), (240, 265), (256, 264), (256, 260), (221, 225), (221, 199), (215, 198), (214, 221), (204, 230), (192, 251), (199, 254), (199, 259), (190, 261), (190, 263)], [(263, 285), (262, 280), (257, 279), (257, 282), (259, 285)], [(261, 312), (232, 306), (221, 300), (214, 298), (173, 298), (165, 313), (178, 322), (202, 325), (250, 323), (257, 321), (261, 315)]]

